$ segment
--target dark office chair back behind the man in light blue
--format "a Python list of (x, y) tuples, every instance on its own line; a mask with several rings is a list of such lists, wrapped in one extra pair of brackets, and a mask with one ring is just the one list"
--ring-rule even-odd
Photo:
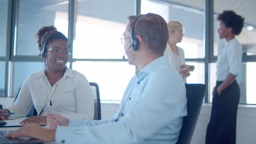
[(188, 115), (183, 119), (181, 133), (178, 144), (188, 144), (194, 133), (197, 118), (199, 116), (203, 97), (205, 97), (206, 86), (203, 84), (185, 84), (187, 90)]

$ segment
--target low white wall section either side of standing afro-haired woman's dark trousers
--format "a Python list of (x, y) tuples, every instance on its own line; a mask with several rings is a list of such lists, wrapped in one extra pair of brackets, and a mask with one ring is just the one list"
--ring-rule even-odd
[[(239, 105), (237, 112), (236, 143), (256, 142), (256, 107)], [(205, 143), (207, 124), (210, 121), (211, 104), (203, 104), (191, 144)]]

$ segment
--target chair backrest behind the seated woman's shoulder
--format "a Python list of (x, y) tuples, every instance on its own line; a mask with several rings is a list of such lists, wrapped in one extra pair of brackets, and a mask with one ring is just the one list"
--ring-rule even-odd
[(92, 93), (94, 94), (94, 119), (101, 119), (101, 99), (100, 99), (100, 89), (98, 88), (98, 84), (95, 82), (89, 82)]

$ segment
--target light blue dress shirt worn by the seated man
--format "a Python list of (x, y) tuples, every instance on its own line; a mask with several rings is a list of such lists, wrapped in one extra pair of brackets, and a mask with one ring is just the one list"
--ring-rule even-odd
[(187, 115), (183, 79), (166, 56), (136, 71), (117, 113), (101, 121), (69, 120), (58, 143), (176, 143)]

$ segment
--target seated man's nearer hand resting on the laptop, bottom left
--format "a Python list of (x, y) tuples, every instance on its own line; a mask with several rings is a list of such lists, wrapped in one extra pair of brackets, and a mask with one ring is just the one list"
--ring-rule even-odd
[(19, 137), (31, 137), (33, 139), (43, 140), (45, 142), (55, 141), (55, 130), (46, 129), (36, 124), (27, 124), (16, 131), (11, 131), (5, 137), (18, 139)]

